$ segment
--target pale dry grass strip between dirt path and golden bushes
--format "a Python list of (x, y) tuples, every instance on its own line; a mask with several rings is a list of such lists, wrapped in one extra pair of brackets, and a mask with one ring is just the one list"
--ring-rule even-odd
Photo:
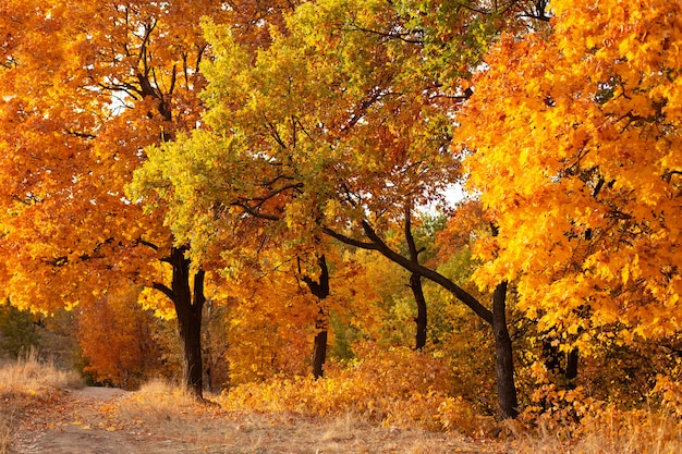
[(234, 454), (497, 452), (494, 442), (486, 446), (455, 434), (382, 427), (351, 413), (318, 418), (287, 412), (226, 412), (159, 381), (120, 401), (114, 413), (145, 441), (149, 453), (171, 442), (175, 452)]

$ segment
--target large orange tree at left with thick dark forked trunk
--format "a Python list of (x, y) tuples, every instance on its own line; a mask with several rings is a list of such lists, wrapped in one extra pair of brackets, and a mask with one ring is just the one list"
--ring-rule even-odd
[[(0, 5), (2, 294), (51, 311), (121, 282), (174, 306), (186, 385), (202, 395), (206, 270), (124, 195), (144, 147), (197, 124), (208, 46), (202, 16), (264, 39), (290, 2), (34, 1)], [(162, 265), (159, 265), (162, 263)], [(165, 270), (163, 270), (165, 268)]]

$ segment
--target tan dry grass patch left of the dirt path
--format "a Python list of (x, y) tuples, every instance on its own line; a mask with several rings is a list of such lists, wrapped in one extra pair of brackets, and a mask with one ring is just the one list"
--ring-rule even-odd
[(77, 373), (41, 363), (35, 352), (0, 364), (0, 454), (9, 453), (10, 438), (28, 408), (48, 405), (60, 390), (77, 389)]

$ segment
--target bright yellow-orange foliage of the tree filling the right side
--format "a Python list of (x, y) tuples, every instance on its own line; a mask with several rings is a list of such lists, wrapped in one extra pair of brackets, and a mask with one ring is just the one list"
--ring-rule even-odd
[(551, 30), (486, 57), (458, 116), (499, 230), (477, 281), (514, 282), (564, 352), (663, 340), (681, 328), (680, 5), (551, 7)]

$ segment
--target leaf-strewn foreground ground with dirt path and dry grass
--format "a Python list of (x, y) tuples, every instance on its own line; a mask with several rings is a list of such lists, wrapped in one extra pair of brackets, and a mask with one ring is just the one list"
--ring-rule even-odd
[[(163, 392), (162, 390), (159, 390)], [(418, 429), (385, 428), (360, 417), (227, 414), (176, 404), (154, 391), (62, 390), (26, 408), (9, 453), (511, 453), (503, 443)]]

